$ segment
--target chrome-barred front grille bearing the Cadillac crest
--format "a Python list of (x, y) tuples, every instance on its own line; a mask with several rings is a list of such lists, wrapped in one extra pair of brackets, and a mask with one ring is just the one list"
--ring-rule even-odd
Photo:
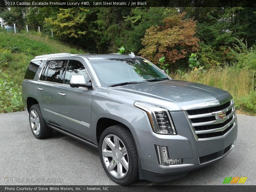
[(225, 135), (236, 124), (233, 100), (223, 105), (185, 112), (196, 140), (211, 140)]

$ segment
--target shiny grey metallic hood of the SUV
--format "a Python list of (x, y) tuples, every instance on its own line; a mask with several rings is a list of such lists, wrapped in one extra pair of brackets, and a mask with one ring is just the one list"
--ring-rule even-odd
[(222, 101), (231, 95), (216, 87), (186, 81), (167, 80), (108, 88), (108, 94), (182, 110), (183, 106)]

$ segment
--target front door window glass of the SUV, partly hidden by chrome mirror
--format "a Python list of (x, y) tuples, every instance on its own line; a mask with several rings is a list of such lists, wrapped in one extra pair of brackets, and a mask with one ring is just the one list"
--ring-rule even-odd
[(84, 75), (85, 80), (88, 78), (87, 70), (84, 65), (77, 60), (69, 60), (65, 74), (64, 84), (69, 84), (72, 75)]

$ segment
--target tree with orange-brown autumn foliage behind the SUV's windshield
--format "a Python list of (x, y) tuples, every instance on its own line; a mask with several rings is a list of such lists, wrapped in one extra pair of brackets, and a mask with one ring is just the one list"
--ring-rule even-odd
[(185, 19), (185, 12), (164, 19), (163, 25), (150, 27), (142, 41), (142, 57), (153, 62), (165, 56), (169, 63), (185, 58), (189, 53), (198, 51), (199, 39), (195, 37), (196, 21)]

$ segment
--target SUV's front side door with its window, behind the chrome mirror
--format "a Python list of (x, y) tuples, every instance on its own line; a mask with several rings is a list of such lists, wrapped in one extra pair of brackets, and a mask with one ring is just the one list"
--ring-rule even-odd
[(86, 76), (85, 63), (79, 58), (69, 58), (63, 84), (58, 87), (57, 102), (60, 114), (60, 126), (87, 140), (92, 140), (91, 106), (92, 89), (84, 87), (72, 88), (69, 80), (72, 75)]

